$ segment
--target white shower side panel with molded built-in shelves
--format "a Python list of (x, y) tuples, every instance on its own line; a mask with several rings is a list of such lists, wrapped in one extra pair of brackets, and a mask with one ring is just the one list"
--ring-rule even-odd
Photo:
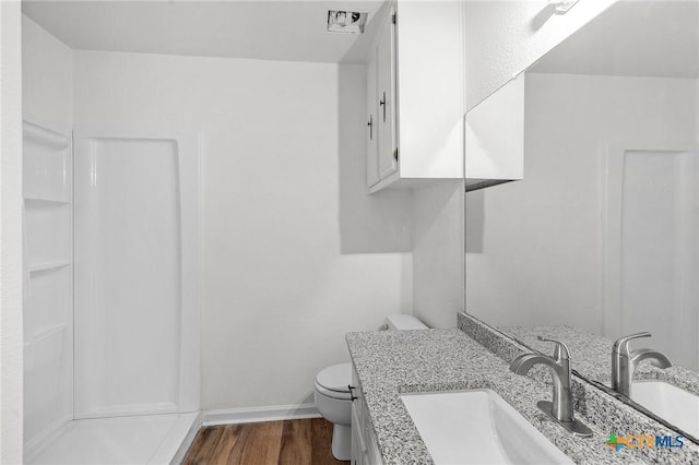
[(72, 419), (70, 136), (23, 123), (24, 442), (32, 450)]

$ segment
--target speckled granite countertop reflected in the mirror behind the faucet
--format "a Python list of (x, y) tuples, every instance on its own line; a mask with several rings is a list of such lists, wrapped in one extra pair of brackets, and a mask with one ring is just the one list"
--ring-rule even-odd
[[(614, 342), (578, 327), (555, 326), (505, 326), (505, 334), (522, 342), (528, 347), (544, 354), (550, 351), (552, 344), (536, 339), (536, 336), (555, 337), (564, 341), (571, 353), (572, 368), (582, 377), (609, 385), (612, 373), (612, 346)], [(643, 339), (633, 341), (633, 348), (645, 347)], [(637, 380), (663, 380), (699, 395), (699, 373), (682, 367), (667, 369), (641, 363), (633, 374)]]

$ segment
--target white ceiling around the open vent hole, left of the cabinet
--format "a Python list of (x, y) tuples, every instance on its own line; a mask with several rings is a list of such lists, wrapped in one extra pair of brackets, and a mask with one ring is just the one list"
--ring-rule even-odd
[[(382, 1), (32, 1), (22, 11), (80, 50), (360, 63)], [(325, 32), (328, 10), (368, 12), (363, 35)]]

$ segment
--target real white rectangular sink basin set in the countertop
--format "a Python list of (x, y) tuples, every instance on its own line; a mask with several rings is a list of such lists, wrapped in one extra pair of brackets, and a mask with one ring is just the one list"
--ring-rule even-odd
[(437, 465), (573, 463), (495, 391), (401, 398)]

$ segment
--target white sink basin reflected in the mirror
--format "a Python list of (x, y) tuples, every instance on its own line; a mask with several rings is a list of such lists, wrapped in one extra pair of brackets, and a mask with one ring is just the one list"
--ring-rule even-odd
[(699, 396), (664, 381), (636, 381), (631, 400), (689, 434), (699, 436)]

